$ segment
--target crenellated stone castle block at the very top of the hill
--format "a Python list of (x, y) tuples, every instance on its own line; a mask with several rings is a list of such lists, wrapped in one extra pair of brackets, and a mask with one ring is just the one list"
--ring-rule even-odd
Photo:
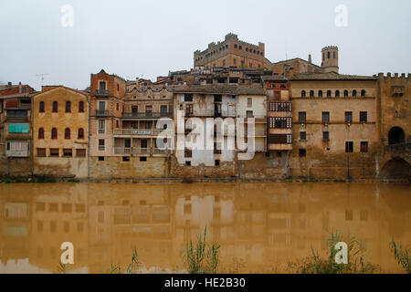
[(268, 64), (263, 43), (249, 44), (231, 33), (224, 41), (212, 42), (204, 51), (196, 50), (194, 53), (195, 68), (268, 68)]

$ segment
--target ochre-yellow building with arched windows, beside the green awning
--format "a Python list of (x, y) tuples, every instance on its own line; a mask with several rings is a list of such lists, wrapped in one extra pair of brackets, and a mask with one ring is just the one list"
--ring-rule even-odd
[(64, 86), (44, 86), (33, 97), (33, 174), (89, 176), (89, 96)]

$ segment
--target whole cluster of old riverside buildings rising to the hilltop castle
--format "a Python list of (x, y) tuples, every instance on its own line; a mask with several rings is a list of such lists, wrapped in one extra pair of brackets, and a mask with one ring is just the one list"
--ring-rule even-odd
[[(409, 74), (342, 75), (338, 58), (332, 46), (321, 66), (311, 56), (271, 63), (263, 43), (228, 34), (196, 50), (193, 69), (155, 81), (100, 70), (85, 90), (9, 83), (0, 87), (1, 174), (409, 180)], [(192, 132), (176, 125), (160, 147), (161, 120), (181, 112), (185, 125), (242, 120), (246, 132), (252, 120), (254, 156), (223, 147), (231, 137), (218, 125), (204, 130), (212, 150), (171, 147)]]

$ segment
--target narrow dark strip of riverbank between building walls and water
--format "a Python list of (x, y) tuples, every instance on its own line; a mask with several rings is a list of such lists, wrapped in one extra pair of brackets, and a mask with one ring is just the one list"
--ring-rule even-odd
[(52, 176), (1, 176), (0, 183), (411, 183), (409, 179), (311, 179), (311, 178), (99, 178), (73, 179)]

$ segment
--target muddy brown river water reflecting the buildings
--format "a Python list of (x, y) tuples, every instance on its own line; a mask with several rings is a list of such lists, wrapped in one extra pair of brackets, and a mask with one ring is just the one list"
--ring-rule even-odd
[(72, 273), (124, 271), (134, 247), (142, 272), (178, 272), (205, 226), (227, 273), (290, 272), (332, 231), (386, 273), (402, 272), (390, 241), (411, 245), (410, 185), (396, 183), (0, 184), (0, 214), (0, 273), (53, 273), (63, 242)]

